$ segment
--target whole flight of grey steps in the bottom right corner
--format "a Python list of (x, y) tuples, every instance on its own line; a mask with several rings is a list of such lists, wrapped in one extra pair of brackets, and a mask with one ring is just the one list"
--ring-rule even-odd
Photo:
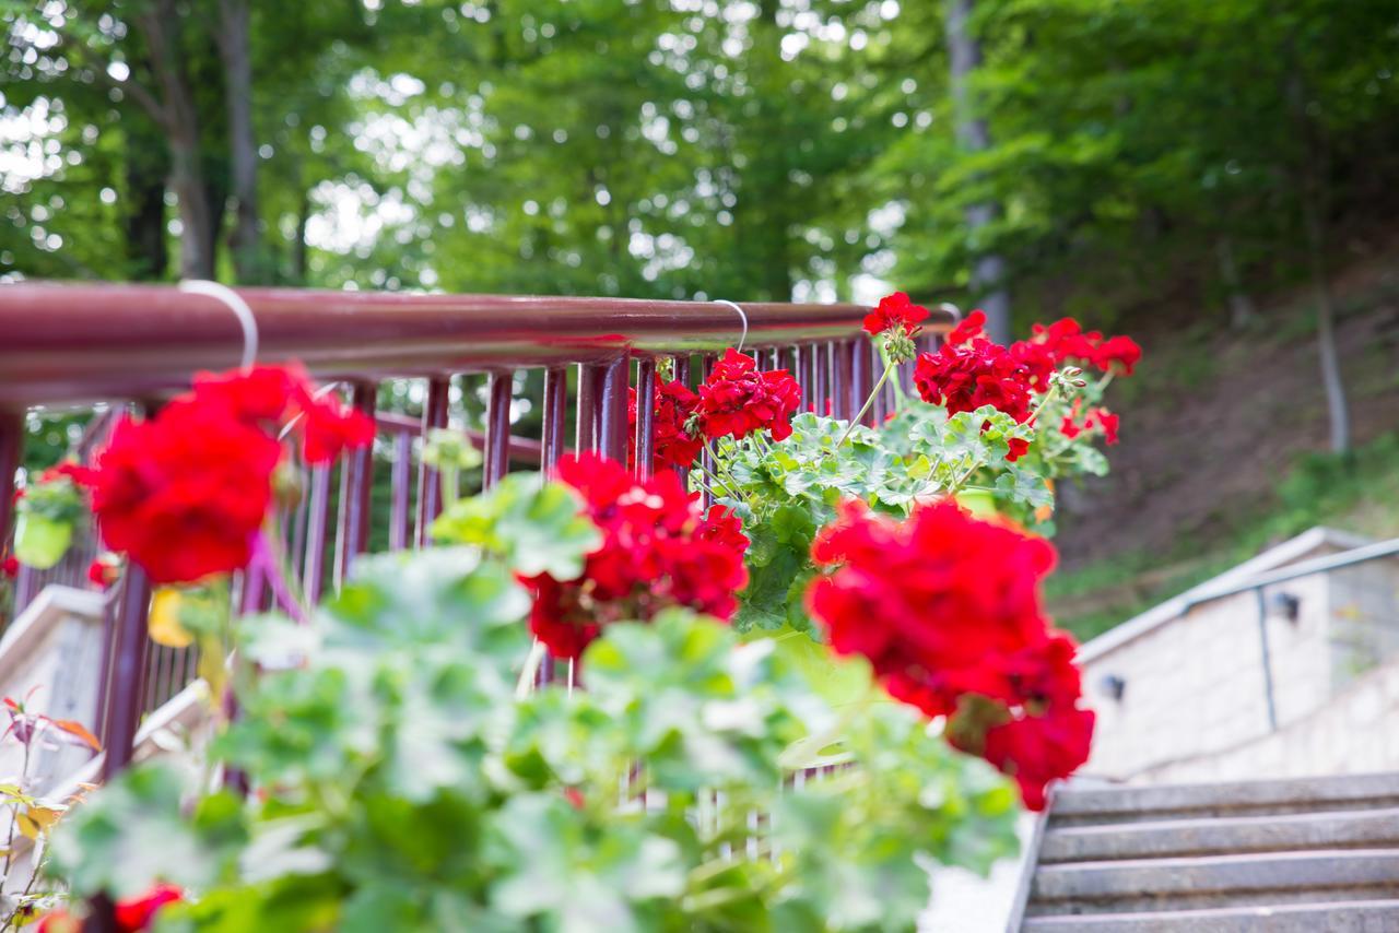
[(1065, 788), (1020, 933), (1399, 933), (1399, 774)]

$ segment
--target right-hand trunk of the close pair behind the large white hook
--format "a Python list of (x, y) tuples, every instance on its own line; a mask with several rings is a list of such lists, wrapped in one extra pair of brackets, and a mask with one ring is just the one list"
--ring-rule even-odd
[(262, 284), (267, 267), (262, 255), (257, 214), (257, 140), (253, 133), (253, 67), (248, 0), (220, 0), (222, 28), (215, 36), (224, 62), (228, 98), (228, 147), (234, 194), (234, 273), (239, 283)]

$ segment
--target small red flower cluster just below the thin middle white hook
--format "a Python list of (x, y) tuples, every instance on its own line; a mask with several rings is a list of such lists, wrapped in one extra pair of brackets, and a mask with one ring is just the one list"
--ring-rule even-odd
[(786, 441), (800, 404), (802, 387), (786, 369), (760, 372), (753, 357), (729, 347), (700, 386), (695, 415), (711, 441), (729, 435), (741, 441), (764, 429), (774, 441)]

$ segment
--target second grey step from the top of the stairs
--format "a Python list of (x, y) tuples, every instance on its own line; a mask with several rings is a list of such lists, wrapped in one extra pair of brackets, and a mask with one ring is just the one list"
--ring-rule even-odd
[(1049, 829), (1039, 864), (1385, 846), (1399, 848), (1399, 807)]

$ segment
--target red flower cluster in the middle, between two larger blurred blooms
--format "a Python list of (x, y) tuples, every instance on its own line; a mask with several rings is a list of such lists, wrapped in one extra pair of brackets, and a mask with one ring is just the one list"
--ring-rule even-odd
[(588, 453), (561, 460), (557, 476), (582, 495), (603, 543), (576, 579), (525, 581), (534, 592), (530, 631), (555, 657), (578, 657), (609, 622), (646, 621), (670, 606), (733, 615), (734, 593), (748, 582), (737, 518), (702, 516), (698, 497), (670, 471), (637, 483), (620, 463)]

